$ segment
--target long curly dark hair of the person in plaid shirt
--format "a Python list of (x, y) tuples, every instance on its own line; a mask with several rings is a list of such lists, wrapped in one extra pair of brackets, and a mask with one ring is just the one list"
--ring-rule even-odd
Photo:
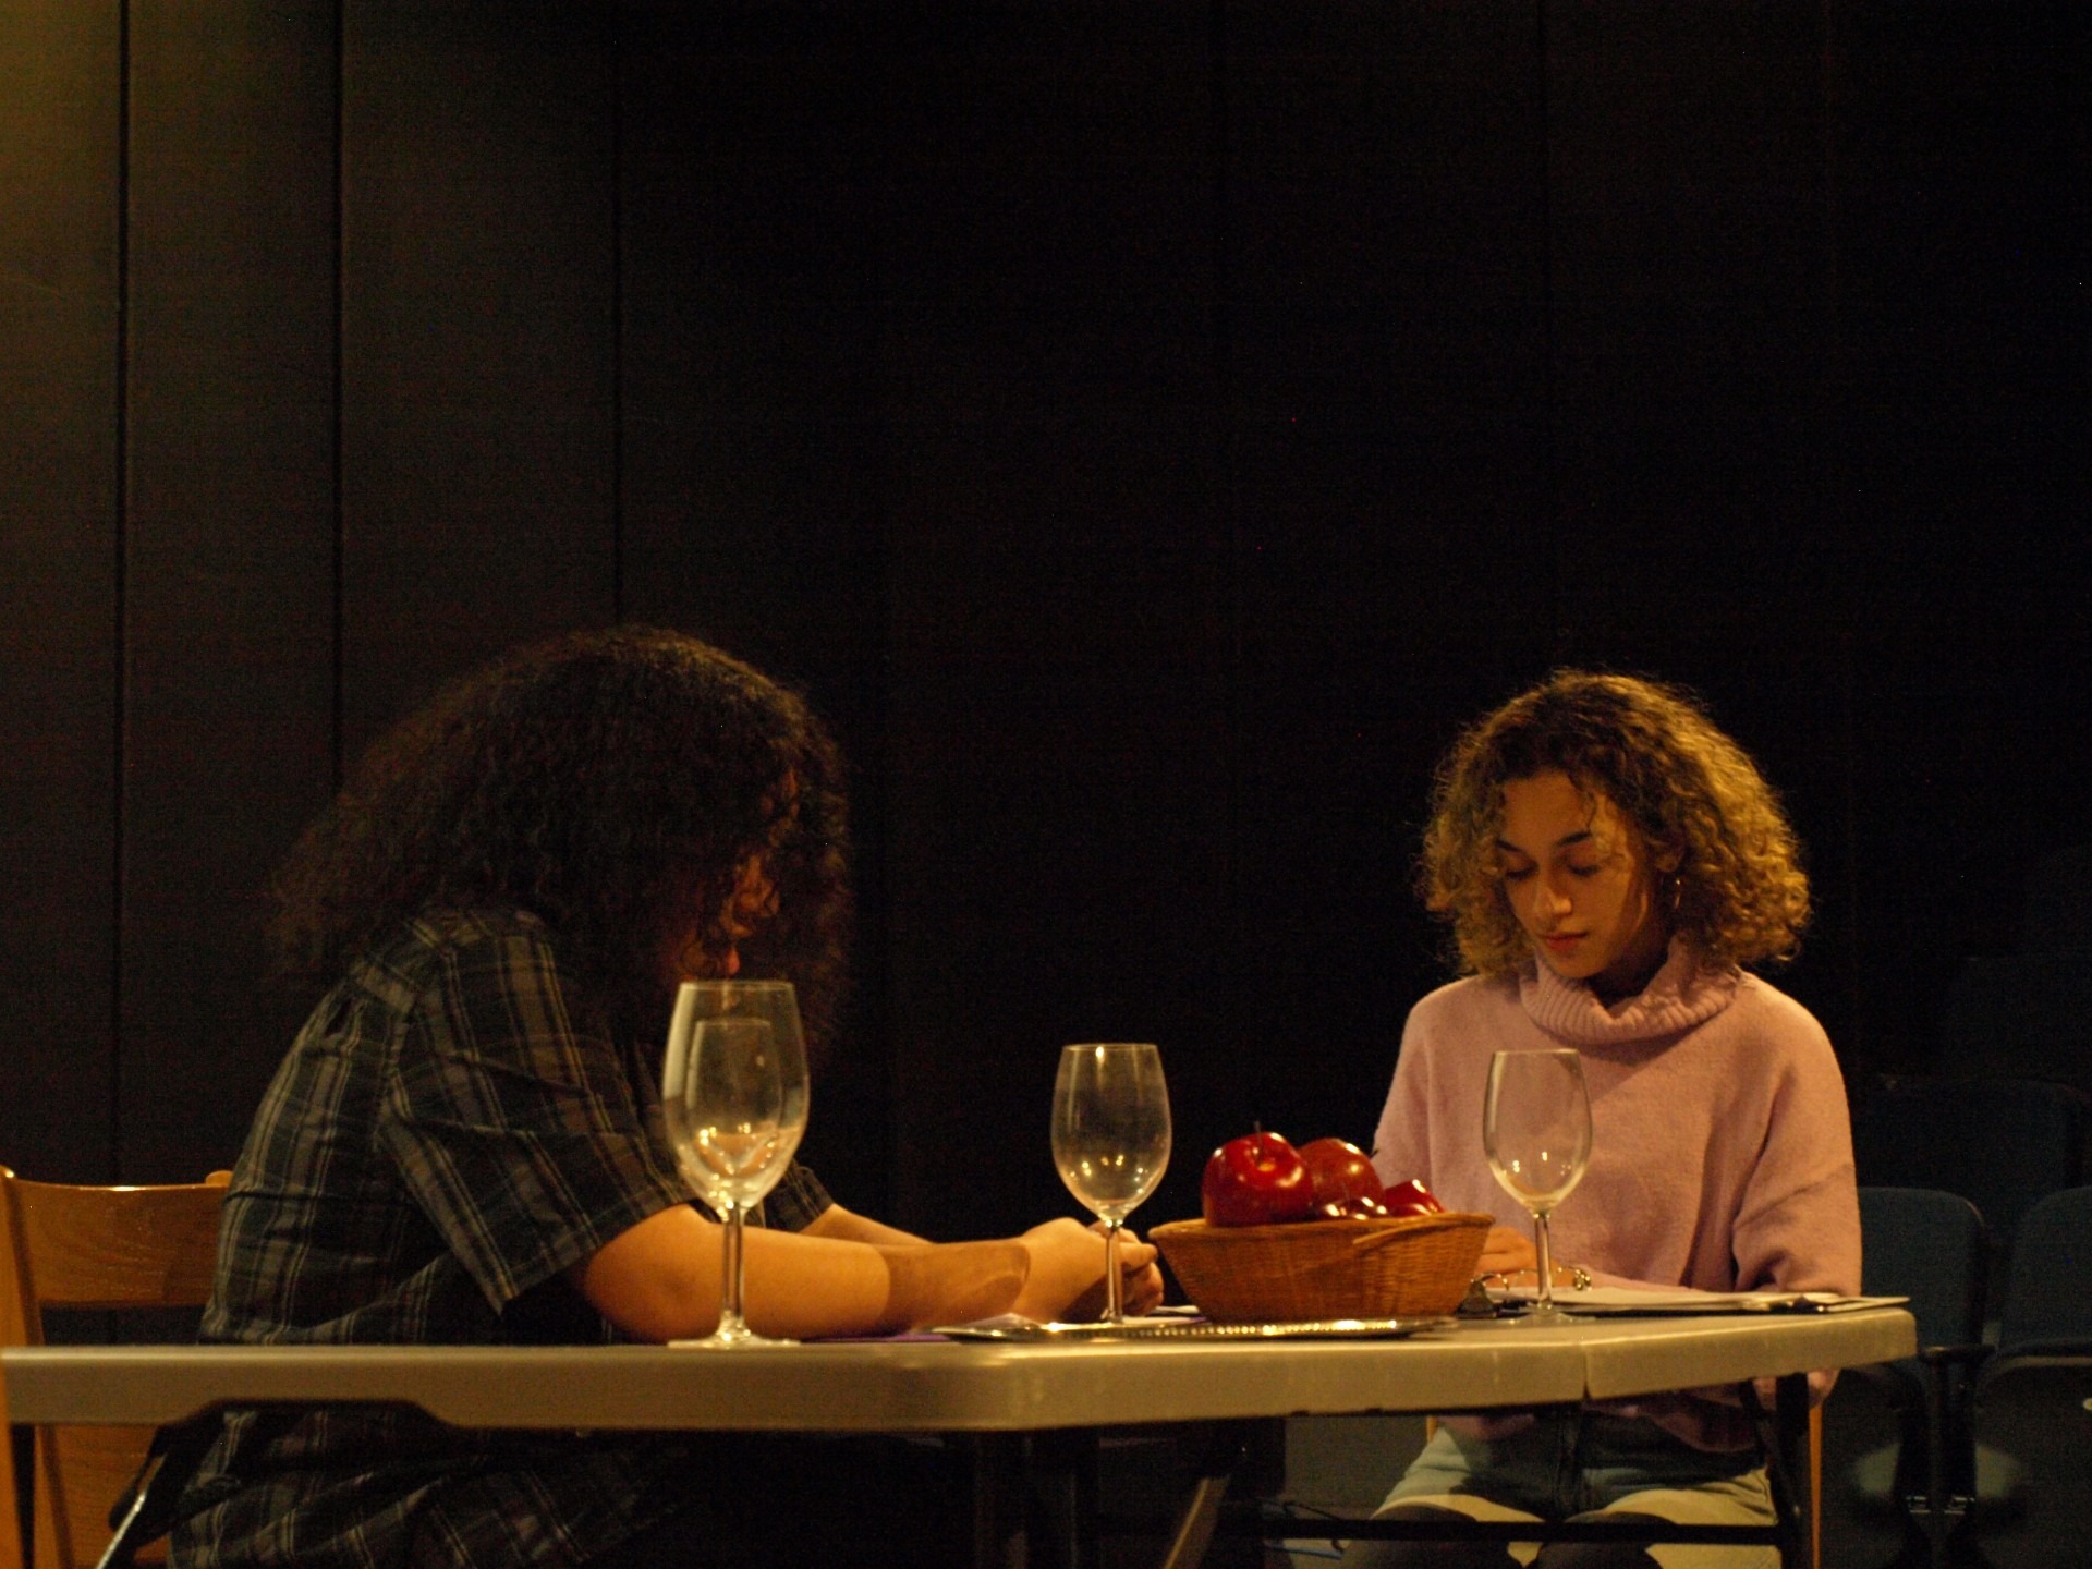
[(776, 912), (741, 943), (791, 979), (812, 1042), (849, 935), (843, 768), (805, 703), (680, 632), (621, 626), (513, 651), (377, 741), (278, 870), (278, 962), (326, 985), (429, 908), (515, 906), (552, 931), (577, 1006), (667, 1023), (663, 954), (720, 927), (764, 856)]

